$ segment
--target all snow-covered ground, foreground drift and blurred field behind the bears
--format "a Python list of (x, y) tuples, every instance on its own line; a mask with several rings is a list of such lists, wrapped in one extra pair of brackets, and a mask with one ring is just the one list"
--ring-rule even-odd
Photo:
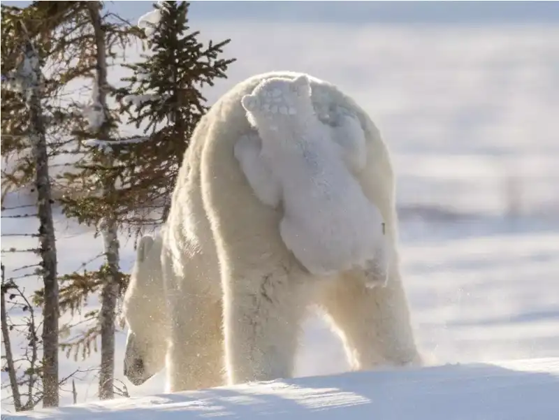
[[(377, 122), (398, 174), (402, 265), (416, 335), (433, 363), (559, 356), (558, 27), (224, 21), (194, 29), (208, 38), (231, 37), (226, 55), (238, 58), (229, 79), (208, 92), (210, 101), (249, 75), (290, 69), (340, 85)], [(35, 229), (5, 220), (1, 228)], [(62, 273), (102, 249), (91, 231), (62, 219), (57, 229)], [(2, 249), (18, 243), (3, 238)], [(132, 243), (122, 247), (122, 268), (129, 270)], [(2, 261), (9, 274), (24, 257), (3, 254)], [(116, 367), (123, 380), (124, 338), (119, 333)], [(61, 374), (96, 361), (61, 355)], [(551, 420), (559, 413), (552, 405), (558, 363), (312, 377), (36, 415), (105, 419), (114, 409), (122, 417), (112, 420), (151, 419), (156, 411), (163, 420), (265, 413), (270, 419)], [(340, 342), (319, 317), (310, 317), (298, 376), (346, 370)], [(154, 395), (163, 382), (160, 374), (128, 388), (132, 396)], [(76, 385), (79, 403), (96, 399), (91, 375)], [(61, 398), (71, 403), (69, 393)], [(131, 412), (136, 407), (146, 410)]]

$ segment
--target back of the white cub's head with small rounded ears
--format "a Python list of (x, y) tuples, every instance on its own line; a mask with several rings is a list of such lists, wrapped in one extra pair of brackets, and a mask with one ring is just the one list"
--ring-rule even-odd
[(303, 117), (312, 113), (310, 80), (306, 75), (295, 79), (270, 78), (257, 85), (252, 94), (242, 96), (242, 107), (253, 126), (282, 118)]

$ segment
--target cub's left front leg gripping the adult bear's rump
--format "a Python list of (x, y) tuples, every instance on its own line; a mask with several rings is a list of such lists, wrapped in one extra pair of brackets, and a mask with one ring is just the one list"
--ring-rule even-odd
[(261, 148), (259, 136), (249, 134), (235, 143), (234, 154), (256, 197), (275, 208), (281, 199), (282, 189), (270, 171), (268, 162), (261, 156)]

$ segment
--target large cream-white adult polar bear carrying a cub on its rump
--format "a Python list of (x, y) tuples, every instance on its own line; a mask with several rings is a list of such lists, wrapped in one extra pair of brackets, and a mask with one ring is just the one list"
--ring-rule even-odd
[(351, 271), (327, 280), (310, 274), (284, 245), (282, 209), (256, 196), (235, 158), (235, 144), (256, 132), (242, 97), (262, 80), (300, 75), (272, 72), (240, 82), (196, 126), (164, 229), (145, 239), (150, 247), (136, 260), (124, 297), (125, 372), (134, 383), (162, 365), (167, 391), (291, 377), (312, 304), (326, 313), (354, 370), (421, 363), (400, 276), (391, 159), (365, 111), (308, 76), (319, 120), (340, 126), (343, 115), (354, 114), (365, 133), (365, 164), (351, 170), (386, 224), (386, 287), (368, 289)]

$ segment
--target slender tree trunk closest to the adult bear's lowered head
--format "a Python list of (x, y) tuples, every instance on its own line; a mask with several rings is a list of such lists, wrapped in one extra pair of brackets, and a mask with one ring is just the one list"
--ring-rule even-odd
[[(92, 21), (96, 43), (96, 73), (99, 92), (99, 104), (103, 108), (105, 120), (99, 129), (101, 140), (108, 140), (110, 134), (110, 114), (107, 106), (107, 57), (106, 32), (101, 22), (101, 4), (99, 1), (88, 1), (87, 7)], [(113, 158), (106, 155), (104, 166), (110, 167)], [(115, 181), (108, 180), (103, 188), (103, 196), (109, 200), (115, 197)], [(110, 210), (111, 211), (111, 210)], [(114, 214), (106, 215), (101, 231), (103, 232), (105, 254), (107, 258), (107, 275), (101, 290), (101, 370), (99, 372), (99, 398), (108, 400), (114, 398), (115, 375), (115, 320), (117, 298), (119, 292), (119, 241), (117, 237), (117, 222)]]

